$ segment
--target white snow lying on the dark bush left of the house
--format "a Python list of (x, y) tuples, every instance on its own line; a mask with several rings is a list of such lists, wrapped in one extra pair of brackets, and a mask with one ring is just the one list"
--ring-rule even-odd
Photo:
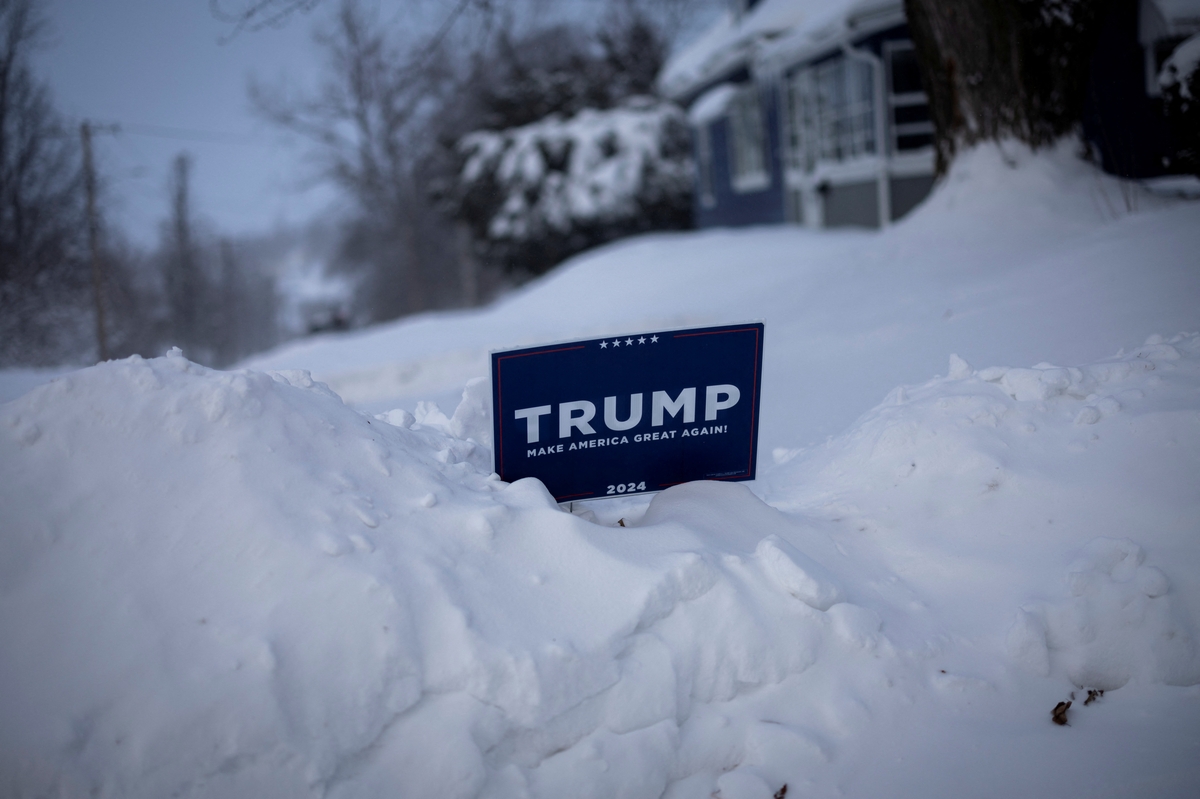
[[(526, 241), (580, 226), (624, 224), (691, 199), (690, 139), (678, 107), (635, 97), (508, 131), (463, 137), (461, 191), (488, 206), (491, 239)], [(494, 206), (491, 208), (491, 206)]]

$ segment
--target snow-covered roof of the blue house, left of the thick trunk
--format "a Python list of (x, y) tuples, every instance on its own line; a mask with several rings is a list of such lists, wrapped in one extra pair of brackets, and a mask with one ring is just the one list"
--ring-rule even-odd
[(829, 41), (850, 30), (856, 16), (900, 7), (899, 0), (762, 0), (746, 13), (724, 14), (698, 40), (672, 55), (659, 74), (659, 90), (680, 100), (749, 65), (775, 40)]

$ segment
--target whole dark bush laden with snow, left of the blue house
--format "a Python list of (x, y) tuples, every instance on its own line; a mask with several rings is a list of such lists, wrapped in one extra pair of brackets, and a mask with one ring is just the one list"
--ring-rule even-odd
[(540, 274), (624, 235), (691, 223), (691, 148), (674, 104), (634, 97), (458, 143), (458, 216), (480, 254)]

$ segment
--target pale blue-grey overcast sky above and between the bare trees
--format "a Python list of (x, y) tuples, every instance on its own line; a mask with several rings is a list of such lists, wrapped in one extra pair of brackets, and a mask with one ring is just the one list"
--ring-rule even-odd
[[(224, 8), (251, 0), (221, 0)], [(436, 30), (455, 0), (366, 0), (379, 19), (413, 35)], [(523, 0), (532, 17), (602, 13), (610, 0)], [(312, 86), (320, 72), (313, 28), (336, 10), (322, 0), (278, 28), (233, 34), (209, 0), (43, 0), (50, 22), (38, 73), (73, 122), (114, 122), (96, 140), (108, 221), (154, 245), (167, 216), (167, 180), (180, 151), (193, 156), (193, 209), (222, 234), (269, 230), (336, 209), (316, 185), (301, 142), (258, 119), (251, 76)], [(707, 6), (709, 4), (701, 2)], [(710, 10), (709, 10), (710, 16)]]

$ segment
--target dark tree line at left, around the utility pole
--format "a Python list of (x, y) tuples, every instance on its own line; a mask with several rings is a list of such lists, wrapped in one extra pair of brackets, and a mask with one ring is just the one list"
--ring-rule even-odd
[(262, 264), (286, 246), (234, 242), (198, 226), (188, 156), (167, 181), (158, 247), (134, 246), (106, 224), (103, 158), (88, 164), (84, 140), (114, 131), (55, 109), (31, 66), (46, 35), (40, 12), (38, 0), (0, 0), (0, 367), (85, 364), (101, 355), (101, 341), (109, 356), (179, 344), (212, 365), (275, 344), (286, 331)]

